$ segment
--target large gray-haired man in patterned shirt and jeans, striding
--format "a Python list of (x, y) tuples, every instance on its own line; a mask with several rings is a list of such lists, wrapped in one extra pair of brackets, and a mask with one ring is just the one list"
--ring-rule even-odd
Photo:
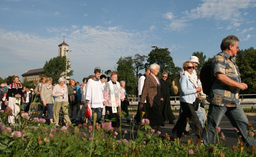
[(248, 119), (239, 102), (239, 90), (247, 89), (248, 86), (241, 83), (239, 69), (236, 66), (238, 42), (239, 39), (233, 35), (224, 38), (220, 45), (222, 52), (212, 60), (212, 77), (216, 79), (207, 99), (210, 105), (207, 127), (203, 132), (204, 144), (214, 143), (215, 127), (218, 127), (225, 114), (233, 127), (239, 130), (238, 134), (242, 135), (244, 143), (256, 146), (254, 138), (248, 136)]

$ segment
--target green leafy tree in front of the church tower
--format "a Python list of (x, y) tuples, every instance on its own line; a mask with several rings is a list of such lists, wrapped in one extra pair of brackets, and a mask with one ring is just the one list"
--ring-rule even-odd
[[(69, 61), (67, 70), (70, 68)], [(66, 56), (58, 56), (51, 58), (49, 62), (45, 62), (44, 64), (44, 71), (47, 77), (52, 78), (53, 83), (57, 83), (60, 77), (65, 77), (66, 72)], [(73, 70), (67, 72), (67, 76), (72, 76)]]

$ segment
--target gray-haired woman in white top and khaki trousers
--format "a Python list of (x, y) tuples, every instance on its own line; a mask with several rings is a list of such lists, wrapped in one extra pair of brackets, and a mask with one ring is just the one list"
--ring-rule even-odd
[(66, 125), (70, 122), (70, 118), (68, 117), (68, 87), (65, 84), (65, 78), (61, 77), (58, 80), (59, 84), (55, 85), (52, 90), (52, 96), (55, 97), (54, 99), (54, 107), (53, 107), (53, 117), (56, 125), (58, 126), (59, 123), (59, 115), (60, 115), (60, 108), (63, 110), (64, 114), (64, 122)]

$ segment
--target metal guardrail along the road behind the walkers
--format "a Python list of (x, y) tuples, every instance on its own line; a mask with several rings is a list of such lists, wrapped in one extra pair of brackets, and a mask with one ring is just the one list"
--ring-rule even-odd
[[(246, 95), (256, 95), (256, 94), (246, 94)], [(240, 97), (246, 96), (246, 95), (240, 95)], [(174, 110), (180, 109), (180, 101), (176, 100), (178, 98), (179, 97), (170, 97), (170, 99), (174, 99), (174, 100), (170, 101), (171, 107)], [(130, 111), (135, 108), (137, 109), (138, 108), (138, 98), (129, 98), (129, 99), (130, 99), (130, 105), (128, 106), (128, 109)], [(133, 101), (133, 100), (136, 100), (136, 101)], [(242, 99), (241, 98), (240, 102), (241, 102), (242, 107), (252, 107), (252, 110), (253, 110), (253, 107), (256, 106), (256, 98), (250, 98), (250, 99)], [(208, 108), (209, 104), (210, 103), (208, 101), (206, 101), (205, 107)]]

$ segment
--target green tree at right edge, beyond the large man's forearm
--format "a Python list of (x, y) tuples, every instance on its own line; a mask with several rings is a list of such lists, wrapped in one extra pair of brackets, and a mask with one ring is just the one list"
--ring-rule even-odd
[(253, 47), (240, 50), (236, 55), (236, 65), (239, 67), (242, 82), (248, 85), (244, 94), (252, 94), (256, 91), (256, 50)]

